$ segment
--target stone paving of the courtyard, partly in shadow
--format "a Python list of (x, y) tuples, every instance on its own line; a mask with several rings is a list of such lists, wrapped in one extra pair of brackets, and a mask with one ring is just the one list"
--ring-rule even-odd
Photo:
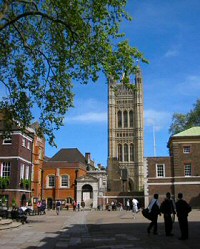
[(200, 211), (189, 215), (190, 238), (180, 241), (177, 220), (173, 237), (164, 233), (159, 217), (158, 235), (148, 235), (149, 221), (126, 211), (48, 211), (28, 217), (29, 223), (0, 231), (0, 249), (196, 249), (200, 243)]

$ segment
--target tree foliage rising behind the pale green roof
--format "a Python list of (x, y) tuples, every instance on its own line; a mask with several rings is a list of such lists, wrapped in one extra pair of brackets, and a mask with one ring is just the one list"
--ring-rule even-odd
[(194, 104), (194, 108), (187, 114), (174, 113), (172, 124), (169, 128), (171, 135), (189, 129), (193, 126), (200, 126), (200, 99)]

